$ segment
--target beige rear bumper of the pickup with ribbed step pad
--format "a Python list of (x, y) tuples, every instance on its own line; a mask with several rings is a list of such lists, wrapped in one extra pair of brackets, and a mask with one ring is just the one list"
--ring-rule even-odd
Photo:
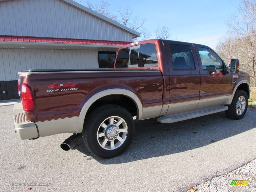
[(27, 116), (22, 109), (22, 103), (14, 104), (13, 113), (15, 132), (18, 133), (20, 139), (33, 139), (39, 137), (36, 124), (28, 121)]

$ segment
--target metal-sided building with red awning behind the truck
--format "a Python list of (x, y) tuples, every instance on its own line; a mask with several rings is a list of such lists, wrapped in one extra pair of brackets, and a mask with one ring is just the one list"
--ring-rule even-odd
[(19, 71), (98, 68), (138, 36), (72, 0), (0, 0), (0, 100), (19, 98)]

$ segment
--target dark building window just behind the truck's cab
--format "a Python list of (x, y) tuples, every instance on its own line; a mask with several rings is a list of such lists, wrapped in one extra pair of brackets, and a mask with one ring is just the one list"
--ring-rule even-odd
[(116, 52), (98, 51), (99, 68), (114, 68)]

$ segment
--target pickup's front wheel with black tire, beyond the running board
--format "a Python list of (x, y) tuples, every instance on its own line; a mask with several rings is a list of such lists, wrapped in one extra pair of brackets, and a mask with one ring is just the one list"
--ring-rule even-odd
[(228, 110), (225, 114), (228, 118), (238, 120), (242, 119), (246, 113), (248, 106), (248, 95), (243, 90), (237, 90), (232, 103), (228, 105)]

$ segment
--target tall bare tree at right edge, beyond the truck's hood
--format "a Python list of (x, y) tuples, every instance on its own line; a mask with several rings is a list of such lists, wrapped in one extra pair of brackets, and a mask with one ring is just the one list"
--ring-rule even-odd
[(239, 41), (245, 56), (243, 64), (248, 66), (253, 86), (256, 87), (256, 0), (242, 0), (237, 10), (227, 26)]

